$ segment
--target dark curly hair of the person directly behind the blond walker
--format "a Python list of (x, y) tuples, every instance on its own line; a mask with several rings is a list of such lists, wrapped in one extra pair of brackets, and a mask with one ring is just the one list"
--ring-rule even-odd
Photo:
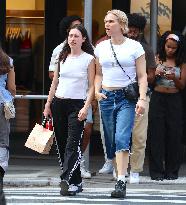
[(128, 17), (129, 27), (139, 28), (140, 31), (144, 30), (147, 23), (145, 16), (142, 16), (137, 13), (132, 13), (132, 14), (127, 14), (127, 17)]

